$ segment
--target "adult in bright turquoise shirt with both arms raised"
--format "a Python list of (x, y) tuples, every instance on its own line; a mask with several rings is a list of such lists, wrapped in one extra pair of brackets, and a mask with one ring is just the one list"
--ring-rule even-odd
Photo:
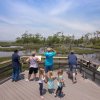
[(56, 55), (56, 51), (52, 48), (47, 48), (47, 51), (44, 53), (45, 59), (45, 72), (53, 70), (53, 57)]

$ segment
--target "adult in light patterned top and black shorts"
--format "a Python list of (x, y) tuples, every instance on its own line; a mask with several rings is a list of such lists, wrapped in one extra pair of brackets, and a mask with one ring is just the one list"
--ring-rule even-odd
[(40, 62), (40, 59), (36, 57), (36, 51), (32, 52), (32, 55), (26, 60), (26, 62), (29, 62), (29, 73), (28, 73), (28, 79), (26, 81), (30, 81), (32, 73), (34, 73), (34, 79), (36, 79), (36, 74), (38, 73), (38, 62)]

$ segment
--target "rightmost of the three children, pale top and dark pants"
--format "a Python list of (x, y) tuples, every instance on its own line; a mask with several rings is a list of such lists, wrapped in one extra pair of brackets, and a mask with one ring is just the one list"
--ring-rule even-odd
[(64, 86), (64, 80), (63, 80), (63, 70), (62, 69), (60, 69), (60, 70), (58, 70), (58, 72), (57, 72), (57, 75), (58, 75), (58, 77), (57, 77), (57, 86), (58, 86), (58, 88), (57, 88), (57, 90), (56, 90), (56, 92), (55, 92), (55, 97), (57, 96), (57, 95), (59, 95), (59, 96), (61, 96), (62, 95), (62, 88), (63, 88), (63, 86)]

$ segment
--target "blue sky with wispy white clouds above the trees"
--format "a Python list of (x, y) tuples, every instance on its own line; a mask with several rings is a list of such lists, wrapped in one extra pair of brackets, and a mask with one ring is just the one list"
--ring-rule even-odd
[(14, 41), (25, 31), (80, 38), (97, 30), (100, 0), (0, 0), (0, 41)]

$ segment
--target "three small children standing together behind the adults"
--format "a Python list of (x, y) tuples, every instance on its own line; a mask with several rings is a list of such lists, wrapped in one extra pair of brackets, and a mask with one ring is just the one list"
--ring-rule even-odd
[[(57, 80), (57, 84), (54, 84), (55, 79)], [(43, 99), (43, 84), (46, 83), (48, 87), (48, 92), (50, 94), (54, 93), (54, 96), (62, 96), (62, 88), (64, 87), (64, 79), (63, 79), (63, 70), (59, 69), (57, 71), (57, 77), (54, 76), (53, 71), (48, 71), (45, 73), (43, 68), (39, 69), (39, 91), (40, 96)], [(56, 86), (56, 90), (55, 90)]]

